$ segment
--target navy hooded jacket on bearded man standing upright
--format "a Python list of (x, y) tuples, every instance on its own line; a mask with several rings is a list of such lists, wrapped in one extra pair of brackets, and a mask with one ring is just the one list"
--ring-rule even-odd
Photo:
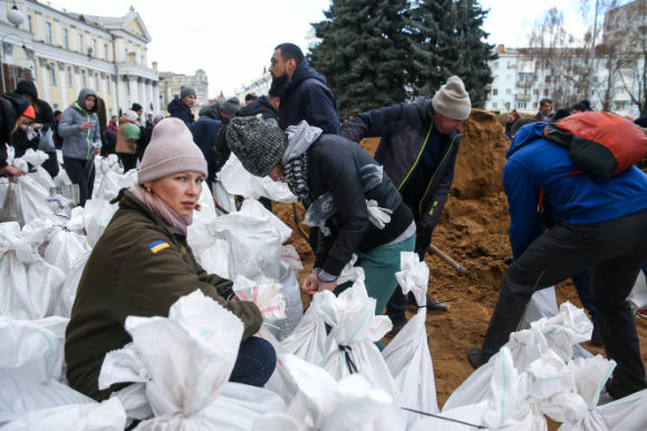
[(339, 117), (335, 96), (321, 73), (303, 60), (297, 65), (292, 81), (281, 93), (278, 106), (278, 126), (285, 130), (301, 119), (325, 134), (339, 135)]

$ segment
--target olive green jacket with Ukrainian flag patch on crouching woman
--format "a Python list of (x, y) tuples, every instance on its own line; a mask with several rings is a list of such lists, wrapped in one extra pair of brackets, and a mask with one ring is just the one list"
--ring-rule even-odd
[(97, 399), (119, 389), (99, 392), (97, 379), (105, 354), (131, 342), (124, 328), (130, 315), (168, 316), (178, 298), (200, 289), (243, 321), (243, 339), (262, 323), (255, 304), (225, 299), (232, 293), (231, 281), (207, 274), (178, 229), (128, 191), (122, 190), (118, 199), (120, 209), (83, 271), (66, 331), (67, 380)]

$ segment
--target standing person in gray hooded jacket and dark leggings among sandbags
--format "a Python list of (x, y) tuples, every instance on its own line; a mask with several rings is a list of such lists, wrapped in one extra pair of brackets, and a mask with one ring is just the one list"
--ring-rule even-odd
[(97, 110), (97, 93), (82, 89), (58, 124), (58, 134), (63, 137), (63, 165), (70, 181), (79, 186), (81, 206), (92, 197), (94, 156), (101, 150)]

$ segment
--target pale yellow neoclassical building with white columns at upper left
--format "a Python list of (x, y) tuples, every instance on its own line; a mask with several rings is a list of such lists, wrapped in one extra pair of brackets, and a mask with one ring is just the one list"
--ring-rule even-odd
[(159, 73), (146, 56), (151, 35), (132, 7), (117, 18), (58, 11), (33, 0), (12, 7), (0, 2), (3, 91), (31, 78), (55, 110), (90, 87), (105, 100), (108, 118), (134, 102), (160, 111)]

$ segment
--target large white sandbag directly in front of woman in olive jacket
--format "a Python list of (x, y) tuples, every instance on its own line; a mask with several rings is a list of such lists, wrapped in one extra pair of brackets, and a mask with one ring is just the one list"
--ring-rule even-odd
[[(178, 299), (168, 318), (129, 316), (126, 329), (145, 370), (127, 346), (121, 357), (114, 352), (106, 356), (99, 382), (101, 387), (110, 384), (104, 373), (130, 373), (131, 381), (143, 377), (156, 416), (136, 429), (244, 430), (262, 414), (285, 410), (283, 401), (267, 390), (246, 385), (225, 389), (243, 324), (201, 291)], [(106, 365), (109, 360), (113, 366)]]

